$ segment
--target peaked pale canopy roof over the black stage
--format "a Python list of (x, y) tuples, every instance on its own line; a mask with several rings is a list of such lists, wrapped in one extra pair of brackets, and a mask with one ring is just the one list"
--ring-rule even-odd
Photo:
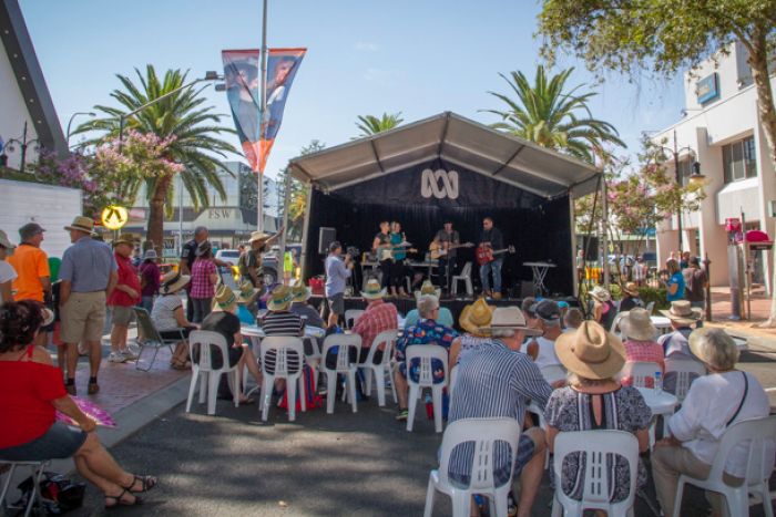
[(292, 159), (295, 178), (337, 190), (435, 159), (551, 199), (593, 192), (590, 164), (446, 112), (423, 121)]

